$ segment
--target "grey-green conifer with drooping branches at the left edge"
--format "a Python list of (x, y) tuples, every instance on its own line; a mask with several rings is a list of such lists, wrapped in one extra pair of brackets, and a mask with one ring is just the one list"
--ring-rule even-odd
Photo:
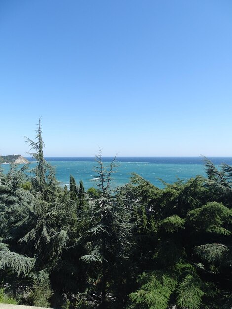
[(0, 281), (12, 291), (18, 288), (15, 282), (22, 283), (35, 264), (18, 244), (28, 216), (27, 207), (34, 202), (33, 196), (21, 187), (26, 179), (25, 169), (24, 166), (18, 170), (11, 164), (0, 184)]

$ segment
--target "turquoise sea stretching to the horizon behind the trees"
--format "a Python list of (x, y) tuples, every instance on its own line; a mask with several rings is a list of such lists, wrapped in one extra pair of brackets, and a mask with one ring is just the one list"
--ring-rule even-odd
[[(36, 162), (32, 158), (29, 168), (33, 168)], [(98, 174), (97, 162), (94, 157), (46, 157), (45, 158), (56, 170), (56, 178), (61, 186), (69, 186), (69, 177), (72, 175), (76, 183), (83, 181), (86, 189), (96, 187)], [(232, 157), (208, 157), (217, 168), (221, 163), (232, 165)], [(102, 161), (109, 168), (112, 157), (103, 157)], [(203, 157), (117, 157), (115, 173), (112, 174), (111, 186), (116, 188), (130, 181), (133, 173), (142, 176), (159, 188), (166, 183), (174, 183), (181, 179), (187, 181), (191, 177), (205, 174)], [(2, 164), (4, 173), (9, 171), (9, 164)], [(19, 165), (21, 167), (22, 165)]]

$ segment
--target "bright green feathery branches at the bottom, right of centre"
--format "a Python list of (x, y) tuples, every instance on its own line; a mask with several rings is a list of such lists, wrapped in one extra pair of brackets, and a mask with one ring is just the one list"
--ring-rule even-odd
[(129, 308), (167, 309), (175, 295), (180, 308), (199, 309), (205, 295), (193, 266), (180, 262), (166, 271), (143, 273), (139, 283), (141, 288), (130, 294)]

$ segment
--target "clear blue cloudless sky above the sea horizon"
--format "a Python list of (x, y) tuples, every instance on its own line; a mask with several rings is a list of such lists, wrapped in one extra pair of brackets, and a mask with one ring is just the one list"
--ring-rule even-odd
[(0, 154), (232, 156), (231, 0), (0, 0)]

